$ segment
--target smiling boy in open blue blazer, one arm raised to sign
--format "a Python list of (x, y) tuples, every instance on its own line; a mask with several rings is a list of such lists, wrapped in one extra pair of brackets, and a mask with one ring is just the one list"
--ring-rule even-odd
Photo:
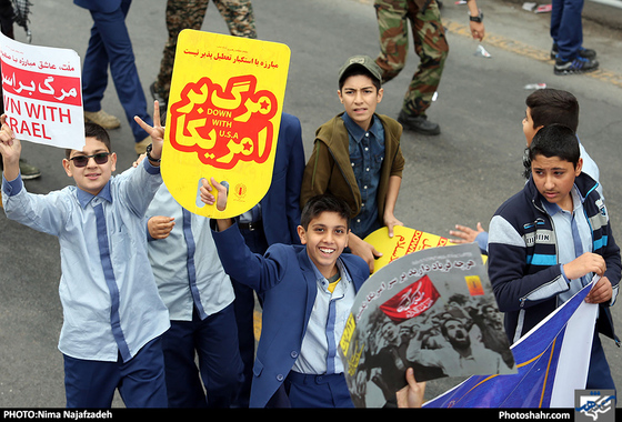
[[(212, 178), (201, 199), (223, 210), (227, 189)], [(298, 228), (302, 244), (273, 244), (263, 255), (250, 252), (232, 219), (217, 220), (213, 238), (224, 271), (263, 294), (250, 408), (268, 406), (283, 384), (292, 408), (353, 406), (337, 348), (369, 267), (342, 254), (349, 217), (342, 200), (313, 197)]]

